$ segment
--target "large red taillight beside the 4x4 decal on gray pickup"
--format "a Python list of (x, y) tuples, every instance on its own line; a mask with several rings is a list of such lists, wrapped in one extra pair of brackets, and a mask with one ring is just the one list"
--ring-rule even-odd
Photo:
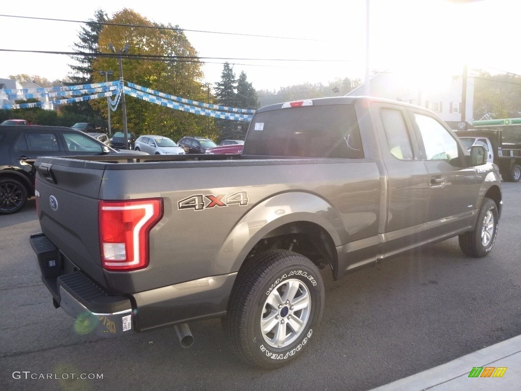
[(148, 234), (163, 217), (163, 200), (100, 201), (98, 213), (103, 268), (128, 272), (148, 266)]

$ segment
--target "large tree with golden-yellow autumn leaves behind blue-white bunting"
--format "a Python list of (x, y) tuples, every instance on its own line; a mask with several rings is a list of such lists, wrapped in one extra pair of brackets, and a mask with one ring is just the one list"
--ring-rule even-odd
[[(128, 53), (122, 54), (125, 81), (185, 99), (206, 101), (207, 90), (201, 82), (202, 64), (197, 59), (197, 52), (178, 26), (152, 22), (127, 8), (116, 13), (109, 22), (117, 25), (108, 25), (101, 31), (98, 46), (102, 53), (110, 54), (109, 44), (117, 51), (129, 45)], [(117, 56), (96, 58), (93, 69), (111, 69), (114, 70), (115, 79), (120, 77)], [(92, 76), (94, 81), (105, 80), (97, 71)], [(128, 129), (137, 135), (151, 133), (173, 140), (187, 135), (215, 136), (215, 129), (204, 116), (145, 102), (128, 95), (126, 103)], [(106, 114), (105, 100), (92, 101), (91, 104)], [(113, 113), (111, 119), (115, 130), (122, 129), (121, 109)]]

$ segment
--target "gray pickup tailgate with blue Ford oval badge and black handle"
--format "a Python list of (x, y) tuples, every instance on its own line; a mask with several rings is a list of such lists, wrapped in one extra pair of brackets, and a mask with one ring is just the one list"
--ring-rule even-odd
[(104, 285), (98, 238), (98, 193), (104, 163), (41, 158), (36, 200), (43, 233), (72, 261)]

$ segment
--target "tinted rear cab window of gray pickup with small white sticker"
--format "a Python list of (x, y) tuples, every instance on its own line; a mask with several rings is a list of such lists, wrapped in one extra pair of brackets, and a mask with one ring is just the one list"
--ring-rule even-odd
[(305, 157), (364, 157), (351, 105), (306, 106), (257, 113), (244, 154)]

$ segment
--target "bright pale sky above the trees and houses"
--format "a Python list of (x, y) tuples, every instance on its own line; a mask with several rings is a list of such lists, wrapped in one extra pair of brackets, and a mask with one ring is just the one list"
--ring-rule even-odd
[[(418, 80), (470, 72), (521, 75), (517, 0), (369, 0), (369, 65), (399, 71)], [(73, 4), (73, 5), (72, 5)], [(204, 80), (221, 78), (228, 61), (238, 77), (244, 71), (256, 90), (277, 91), (301, 83), (327, 85), (366, 75), (366, 0), (125, 2), (3, 2), (0, 7), (0, 78), (28, 74), (64, 79), (66, 55), (15, 53), (73, 50), (82, 23), (97, 9), (110, 18), (130, 8), (144, 18), (178, 25), (201, 57), (219, 57), (203, 67)], [(6, 16), (9, 15), (9, 16)], [(430, 76), (429, 76), (430, 74)], [(131, 80), (129, 80), (131, 81)]]

